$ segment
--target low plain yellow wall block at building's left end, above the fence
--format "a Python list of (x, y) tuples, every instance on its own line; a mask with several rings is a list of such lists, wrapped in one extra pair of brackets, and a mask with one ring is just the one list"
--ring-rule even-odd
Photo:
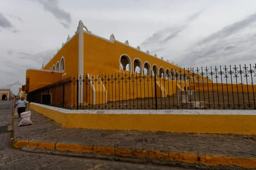
[(62, 73), (43, 71), (43, 70), (27, 70), (26, 79), (29, 78), (29, 91), (50, 85), (62, 79)]

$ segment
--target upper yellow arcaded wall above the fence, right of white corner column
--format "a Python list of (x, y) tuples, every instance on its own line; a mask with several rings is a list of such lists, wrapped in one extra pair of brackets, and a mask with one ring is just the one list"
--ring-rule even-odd
[[(152, 57), (148, 54), (124, 45), (120, 42), (114, 41), (114, 43), (91, 34), (84, 33), (84, 73), (86, 74), (118, 74), (120, 73), (120, 57), (126, 54), (131, 59), (132, 69), (134, 67), (134, 59), (140, 59), (144, 70), (144, 62), (148, 62), (151, 65), (151, 71), (153, 65), (157, 65), (158, 70), (160, 67), (164, 68), (164, 71), (173, 68), (175, 71), (184, 71), (183, 68), (172, 65), (165, 62), (160, 58)], [(154, 55), (154, 54), (153, 54)], [(134, 72), (134, 71), (130, 71)], [(128, 74), (128, 71), (126, 71)], [(210, 80), (209, 80), (210, 81)]]

